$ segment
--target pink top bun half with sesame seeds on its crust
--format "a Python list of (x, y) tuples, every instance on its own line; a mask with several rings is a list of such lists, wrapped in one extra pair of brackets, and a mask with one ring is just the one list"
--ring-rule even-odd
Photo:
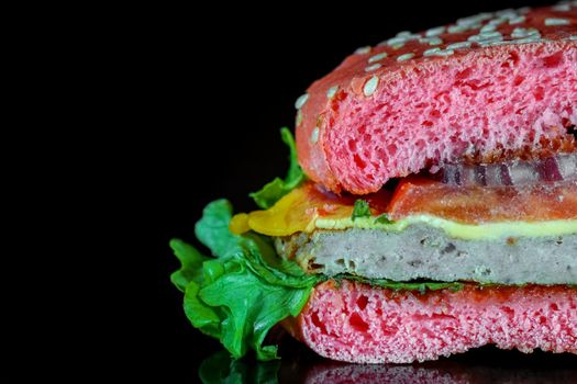
[(504, 10), (357, 49), (297, 100), (307, 174), (340, 192), (443, 162), (577, 150), (577, 2)]

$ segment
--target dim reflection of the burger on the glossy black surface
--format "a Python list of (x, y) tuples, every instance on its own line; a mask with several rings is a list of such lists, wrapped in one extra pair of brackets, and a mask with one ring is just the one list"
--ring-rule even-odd
[[(287, 347), (288, 345), (288, 347)], [(577, 383), (577, 355), (535, 351), (524, 354), (492, 347), (411, 365), (359, 365), (317, 357), (296, 342), (281, 345), (282, 360), (233, 361), (226, 351), (204, 360), (203, 383)]]

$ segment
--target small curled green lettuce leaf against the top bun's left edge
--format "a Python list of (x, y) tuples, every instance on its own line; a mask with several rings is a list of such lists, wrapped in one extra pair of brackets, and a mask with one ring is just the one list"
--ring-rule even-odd
[(267, 183), (260, 191), (253, 192), (249, 194), (251, 197), (255, 201), (263, 210), (271, 207), (277, 201), (280, 200), (284, 195), (292, 191), (295, 188), (304, 180), (304, 173), (299, 166), (297, 160), (297, 146), (295, 145), (295, 138), (287, 127), (280, 128), (280, 137), (282, 142), (289, 147), (289, 170), (285, 180), (280, 178), (275, 178), (275, 180)]

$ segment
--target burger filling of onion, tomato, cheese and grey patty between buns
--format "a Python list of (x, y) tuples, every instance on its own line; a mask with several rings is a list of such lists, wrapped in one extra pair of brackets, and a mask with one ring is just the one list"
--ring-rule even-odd
[(446, 166), (365, 196), (304, 183), (235, 233), (276, 238), (310, 273), (391, 281), (577, 284), (577, 156)]

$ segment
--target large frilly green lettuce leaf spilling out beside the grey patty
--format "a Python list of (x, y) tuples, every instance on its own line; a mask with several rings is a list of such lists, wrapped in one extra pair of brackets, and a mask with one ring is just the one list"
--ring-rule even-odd
[(220, 339), (235, 359), (249, 349), (258, 360), (276, 359), (277, 347), (263, 346), (266, 335), (301, 312), (320, 278), (278, 258), (268, 238), (231, 234), (231, 204), (218, 200), (207, 205), (197, 223), (197, 236), (214, 258), (180, 240), (170, 242), (182, 264), (173, 282), (179, 289), (186, 284), (190, 323)]

